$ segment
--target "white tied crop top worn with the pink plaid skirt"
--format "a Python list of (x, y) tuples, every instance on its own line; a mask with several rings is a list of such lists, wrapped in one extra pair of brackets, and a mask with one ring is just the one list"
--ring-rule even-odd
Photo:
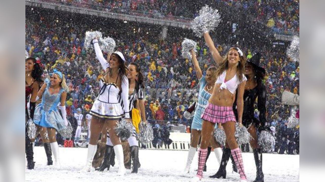
[(240, 82), (237, 74), (235, 74), (234, 77), (232, 77), (230, 80), (225, 82), (226, 79), (226, 73), (227, 71), (224, 71), (218, 78), (217, 81), (215, 82), (216, 84), (221, 84), (220, 89), (228, 89), (231, 94), (234, 94), (236, 92), (236, 89), (238, 88), (238, 85), (241, 82), (244, 82), (247, 80), (246, 76), (243, 74), (243, 79)]

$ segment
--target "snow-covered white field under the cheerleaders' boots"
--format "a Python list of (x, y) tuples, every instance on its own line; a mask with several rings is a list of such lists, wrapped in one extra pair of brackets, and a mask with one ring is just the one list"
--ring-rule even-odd
[[(61, 169), (46, 166), (46, 155), (43, 147), (34, 148), (34, 170), (26, 169), (26, 181), (190, 181), (195, 176), (197, 154), (193, 159), (190, 174), (182, 175), (186, 163), (187, 151), (140, 150), (141, 168), (138, 174), (127, 170), (126, 176), (117, 176), (117, 166), (106, 173), (78, 171), (85, 164), (86, 148), (60, 148)], [(252, 153), (243, 153), (244, 167), (249, 181), (256, 175), (256, 167)], [(52, 156), (53, 157), (53, 156)], [(54, 160), (54, 159), (53, 159)], [(115, 159), (116, 160), (116, 159)], [(231, 163), (227, 165), (227, 179), (211, 179), (218, 166), (214, 153), (210, 154), (207, 162), (207, 172), (202, 181), (238, 181), (239, 174), (231, 173)], [(263, 154), (264, 179), (269, 181), (299, 181), (299, 155)]]

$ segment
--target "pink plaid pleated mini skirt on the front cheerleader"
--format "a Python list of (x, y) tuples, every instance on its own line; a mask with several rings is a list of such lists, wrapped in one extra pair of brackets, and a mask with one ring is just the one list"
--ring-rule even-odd
[(201, 119), (210, 121), (213, 123), (226, 123), (228, 121), (236, 122), (236, 117), (232, 107), (229, 106), (216, 106), (208, 103), (204, 112), (201, 115)]

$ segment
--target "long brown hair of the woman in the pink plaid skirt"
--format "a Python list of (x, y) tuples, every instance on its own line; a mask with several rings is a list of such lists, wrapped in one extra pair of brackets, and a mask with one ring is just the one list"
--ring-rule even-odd
[[(230, 50), (232, 50), (232, 49), (236, 50), (236, 51), (239, 50), (239, 48), (236, 48), (236, 47), (232, 47), (229, 49), (229, 51), (227, 52), (227, 55), (224, 57), (222, 62), (219, 63), (219, 65), (218, 65), (217, 77), (220, 76), (225, 70), (228, 69), (228, 66), (229, 66), (228, 65), (228, 54), (229, 54)], [(245, 64), (246, 64), (246, 58), (245, 58), (244, 53), (242, 56), (240, 56), (240, 54), (239, 54), (239, 62), (237, 65), (237, 76), (238, 76), (240, 82), (243, 79), (243, 74), (245, 74)]]

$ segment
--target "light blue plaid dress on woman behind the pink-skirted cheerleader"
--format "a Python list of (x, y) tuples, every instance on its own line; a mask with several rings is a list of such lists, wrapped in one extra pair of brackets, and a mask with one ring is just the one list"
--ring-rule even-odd
[(211, 96), (210, 93), (204, 90), (204, 87), (207, 84), (205, 80), (205, 76), (202, 75), (201, 79), (199, 80), (199, 84), (200, 84), (199, 99), (195, 108), (194, 118), (191, 126), (191, 129), (194, 130), (202, 130), (201, 114), (203, 113), (205, 107), (207, 106), (208, 100)]

